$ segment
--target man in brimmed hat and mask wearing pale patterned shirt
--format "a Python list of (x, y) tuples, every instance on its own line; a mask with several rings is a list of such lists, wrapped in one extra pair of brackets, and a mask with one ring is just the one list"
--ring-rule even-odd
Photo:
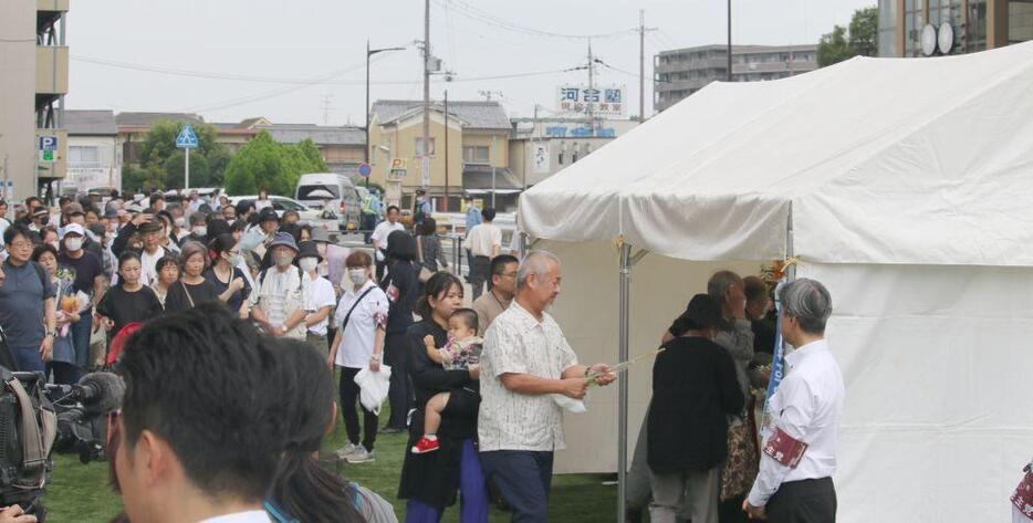
[(272, 266), (259, 274), (258, 304), (251, 316), (271, 336), (305, 339), (305, 296), (301, 270), (293, 265), (298, 255), (294, 237), (276, 233), (269, 244)]

